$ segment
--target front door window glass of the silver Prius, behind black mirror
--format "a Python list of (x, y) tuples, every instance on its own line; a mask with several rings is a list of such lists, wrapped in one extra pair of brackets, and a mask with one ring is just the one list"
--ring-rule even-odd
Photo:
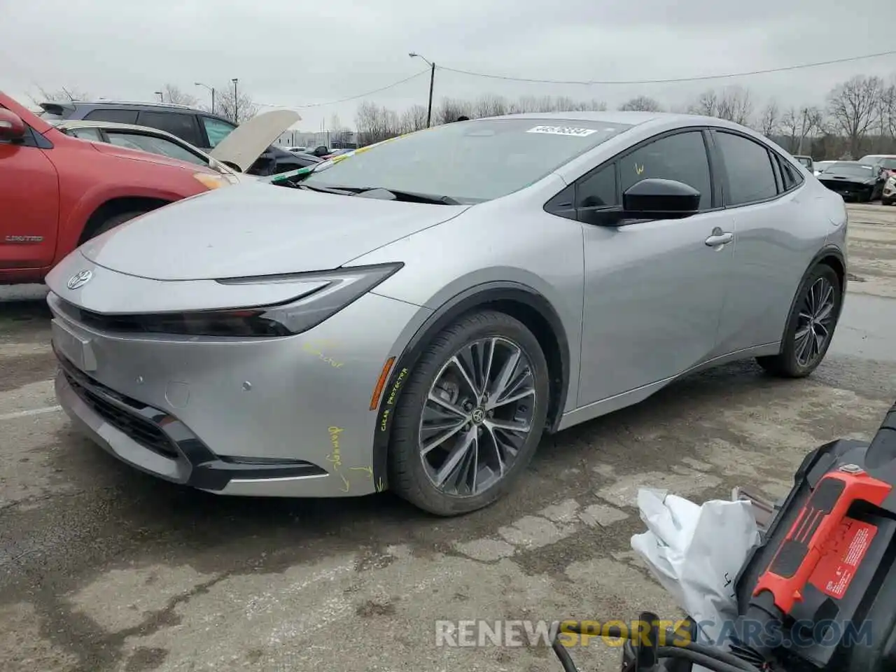
[(651, 177), (676, 180), (700, 192), (701, 210), (712, 207), (710, 162), (701, 131), (668, 135), (644, 145), (619, 160), (619, 174), (623, 193)]

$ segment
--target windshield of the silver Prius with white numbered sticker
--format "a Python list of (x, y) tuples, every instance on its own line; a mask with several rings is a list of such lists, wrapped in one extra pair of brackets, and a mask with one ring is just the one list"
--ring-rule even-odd
[(478, 119), (435, 126), (362, 149), (310, 174), (303, 185), (379, 187), (484, 202), (537, 182), (631, 128), (567, 119)]

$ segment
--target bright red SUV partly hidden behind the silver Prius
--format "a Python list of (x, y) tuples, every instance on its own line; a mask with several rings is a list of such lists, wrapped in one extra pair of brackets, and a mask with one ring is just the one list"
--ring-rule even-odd
[(89, 238), (229, 184), (211, 169), (65, 135), (0, 92), (0, 284), (40, 282)]

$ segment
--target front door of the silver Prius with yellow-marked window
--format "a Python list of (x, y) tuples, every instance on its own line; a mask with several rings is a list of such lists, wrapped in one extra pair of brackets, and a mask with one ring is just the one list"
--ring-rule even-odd
[[(601, 166), (576, 185), (584, 224), (585, 301), (579, 406), (681, 374), (716, 349), (733, 221), (720, 207), (708, 135), (664, 134)], [(693, 186), (700, 212), (680, 220), (600, 226), (650, 177)]]

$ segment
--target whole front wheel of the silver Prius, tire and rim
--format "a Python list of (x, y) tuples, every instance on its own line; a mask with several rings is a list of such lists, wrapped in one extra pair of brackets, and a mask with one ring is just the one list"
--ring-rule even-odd
[(547, 418), (538, 340), (504, 313), (467, 315), (439, 333), (395, 412), (390, 487), (441, 516), (492, 504), (521, 477)]

